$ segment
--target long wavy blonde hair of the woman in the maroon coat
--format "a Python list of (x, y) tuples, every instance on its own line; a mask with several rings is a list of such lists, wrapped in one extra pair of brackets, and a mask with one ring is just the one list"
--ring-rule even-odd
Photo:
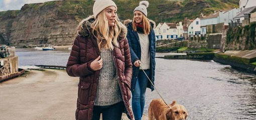
[(105, 10), (102, 10), (95, 21), (91, 23), (92, 34), (96, 37), (99, 50), (101, 48), (113, 50), (114, 46), (118, 46), (118, 35), (121, 32), (118, 17), (116, 15), (115, 24), (108, 26), (108, 20), (105, 15)]

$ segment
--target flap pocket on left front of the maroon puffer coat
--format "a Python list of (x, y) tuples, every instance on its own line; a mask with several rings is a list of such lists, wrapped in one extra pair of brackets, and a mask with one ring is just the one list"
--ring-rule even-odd
[(78, 99), (80, 103), (87, 105), (89, 100), (90, 82), (80, 81), (78, 84)]

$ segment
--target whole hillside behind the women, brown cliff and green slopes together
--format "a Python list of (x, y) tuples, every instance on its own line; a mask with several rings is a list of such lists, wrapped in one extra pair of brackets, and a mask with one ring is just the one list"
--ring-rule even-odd
[[(114, 0), (121, 20), (132, 19), (140, 0)], [(239, 0), (148, 0), (148, 17), (176, 22), (185, 17), (193, 19), (202, 12), (238, 7)], [(70, 45), (76, 26), (92, 14), (94, 0), (61, 0), (25, 4), (21, 10), (0, 12), (0, 44), (18, 47), (35, 45)]]

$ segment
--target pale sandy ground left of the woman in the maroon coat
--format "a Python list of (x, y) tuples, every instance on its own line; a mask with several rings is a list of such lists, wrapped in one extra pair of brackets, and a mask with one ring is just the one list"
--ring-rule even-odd
[(78, 77), (65, 70), (29, 71), (0, 83), (0, 119), (75, 119)]

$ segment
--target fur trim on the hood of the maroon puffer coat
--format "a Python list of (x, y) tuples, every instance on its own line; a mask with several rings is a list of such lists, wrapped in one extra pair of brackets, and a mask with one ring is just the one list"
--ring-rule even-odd
[[(78, 27), (77, 27), (77, 34), (78, 35), (81, 35), (81, 36), (90, 36), (91, 35), (91, 23), (95, 21), (95, 18), (93, 15), (91, 16), (88, 16), (87, 18), (83, 19)], [(127, 34), (127, 29), (126, 29), (126, 26), (123, 25), (120, 21), (119, 21), (119, 24), (120, 24), (120, 28), (121, 28), (121, 32), (120, 34), (118, 35), (119, 38), (118, 40), (122, 39), (122, 38), (125, 38), (126, 37), (126, 34)]]

